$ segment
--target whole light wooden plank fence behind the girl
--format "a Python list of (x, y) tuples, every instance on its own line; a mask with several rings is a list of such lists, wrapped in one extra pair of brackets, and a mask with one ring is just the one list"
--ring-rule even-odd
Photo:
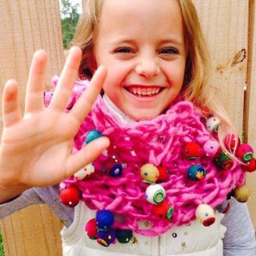
[[(254, 0), (194, 0), (215, 67), (215, 88), (245, 142), (256, 149), (256, 22)], [(45, 87), (64, 63), (58, 1), (0, 1), (0, 85), (19, 82), (24, 107), (33, 53), (48, 53)], [(2, 124), (2, 116), (1, 116)], [(2, 125), (1, 125), (2, 129)], [(256, 173), (247, 176), (248, 205), (256, 227)], [(254, 186), (253, 186), (254, 185)], [(1, 221), (6, 256), (62, 255), (61, 225), (45, 205), (33, 205)]]

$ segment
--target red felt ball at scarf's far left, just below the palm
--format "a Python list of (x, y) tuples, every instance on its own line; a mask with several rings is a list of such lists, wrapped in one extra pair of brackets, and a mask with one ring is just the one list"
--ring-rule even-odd
[(74, 207), (79, 203), (81, 191), (77, 187), (69, 187), (62, 189), (60, 192), (60, 201), (62, 204)]

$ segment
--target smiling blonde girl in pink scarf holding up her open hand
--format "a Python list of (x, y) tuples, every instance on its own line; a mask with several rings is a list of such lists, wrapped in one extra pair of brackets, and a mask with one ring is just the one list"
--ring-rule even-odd
[(63, 255), (255, 255), (237, 202), (253, 150), (213, 97), (193, 4), (87, 0), (73, 44), (45, 101), (35, 53), (23, 118), (17, 82), (5, 85), (0, 217), (48, 204)]

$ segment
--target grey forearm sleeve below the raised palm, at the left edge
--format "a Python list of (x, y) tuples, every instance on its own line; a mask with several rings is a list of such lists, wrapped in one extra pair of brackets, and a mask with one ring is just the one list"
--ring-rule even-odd
[(7, 203), (0, 204), (0, 219), (10, 215), (13, 212), (17, 212), (22, 208), (25, 208), (31, 204), (44, 203), (40, 197), (35, 193), (33, 188), (30, 188), (15, 197)]

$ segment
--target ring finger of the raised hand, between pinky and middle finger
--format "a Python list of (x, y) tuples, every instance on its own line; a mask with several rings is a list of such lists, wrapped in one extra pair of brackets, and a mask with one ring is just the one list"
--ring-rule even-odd
[(47, 53), (44, 50), (37, 50), (29, 70), (25, 114), (44, 108), (44, 79), (47, 62)]

